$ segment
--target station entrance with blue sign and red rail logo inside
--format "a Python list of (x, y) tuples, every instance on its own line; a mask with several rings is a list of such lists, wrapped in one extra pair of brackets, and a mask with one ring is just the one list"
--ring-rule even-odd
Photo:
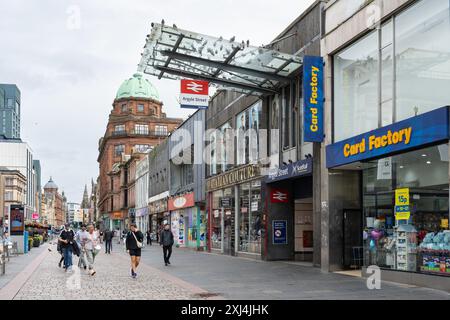
[[(313, 261), (313, 161), (271, 170), (265, 178), (268, 212), (267, 260)], [(318, 250), (319, 251), (319, 250)]]

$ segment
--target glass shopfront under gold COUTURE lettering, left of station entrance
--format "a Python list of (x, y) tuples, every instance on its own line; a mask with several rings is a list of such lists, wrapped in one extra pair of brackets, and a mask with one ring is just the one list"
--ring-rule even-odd
[(248, 165), (207, 180), (211, 251), (261, 258), (266, 225), (259, 172)]

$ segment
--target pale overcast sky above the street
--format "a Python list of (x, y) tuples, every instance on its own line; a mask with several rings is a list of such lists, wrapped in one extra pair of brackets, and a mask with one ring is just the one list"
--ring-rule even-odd
[[(103, 136), (120, 84), (137, 70), (151, 22), (270, 43), (313, 0), (0, 0), (0, 83), (22, 97), (21, 138), (69, 202), (98, 176)], [(148, 78), (169, 117), (179, 83)]]

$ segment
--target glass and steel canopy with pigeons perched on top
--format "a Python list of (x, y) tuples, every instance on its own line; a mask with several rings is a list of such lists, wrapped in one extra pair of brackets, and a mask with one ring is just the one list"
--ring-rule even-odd
[(277, 93), (301, 70), (303, 59), (249, 42), (152, 24), (138, 71), (159, 79), (190, 78), (248, 94)]

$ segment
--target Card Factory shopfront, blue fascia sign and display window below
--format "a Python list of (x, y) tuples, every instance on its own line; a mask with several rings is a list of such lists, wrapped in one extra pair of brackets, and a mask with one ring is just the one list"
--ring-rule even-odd
[(364, 267), (450, 276), (449, 117), (443, 107), (327, 147), (334, 174), (360, 177), (361, 210), (354, 228), (344, 226), (353, 242), (344, 259), (359, 251)]

